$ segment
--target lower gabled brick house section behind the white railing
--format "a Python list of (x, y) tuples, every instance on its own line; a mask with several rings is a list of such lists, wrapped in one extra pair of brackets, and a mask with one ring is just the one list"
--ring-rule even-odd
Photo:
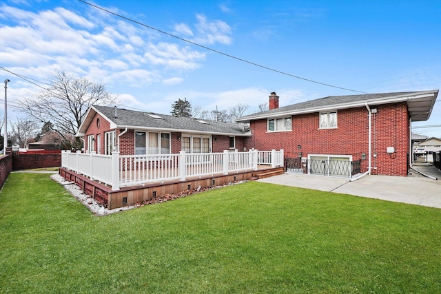
[(245, 151), (251, 136), (245, 123), (223, 123), (183, 116), (92, 105), (76, 134), (86, 152), (120, 155)]

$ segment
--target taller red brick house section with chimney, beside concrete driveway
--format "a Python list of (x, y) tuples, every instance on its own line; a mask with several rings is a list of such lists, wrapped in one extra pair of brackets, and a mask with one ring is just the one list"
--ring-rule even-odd
[[(249, 123), (245, 146), (284, 149), (295, 171), (327, 176), (357, 173), (407, 176), (411, 165), (411, 123), (427, 120), (438, 90), (328, 96), (238, 118)], [(289, 169), (289, 166), (287, 167)]]

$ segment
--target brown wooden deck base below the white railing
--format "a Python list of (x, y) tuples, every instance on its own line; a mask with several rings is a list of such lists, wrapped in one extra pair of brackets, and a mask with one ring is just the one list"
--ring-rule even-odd
[(285, 167), (271, 168), (268, 165), (258, 165), (257, 171), (238, 171), (230, 174), (213, 174), (212, 176), (189, 177), (184, 181), (168, 180), (160, 182), (151, 182), (145, 185), (123, 187), (113, 191), (112, 187), (103, 185), (95, 180), (76, 174), (61, 167), (59, 174), (68, 181), (75, 182), (85, 193), (101, 202), (107, 209), (116, 209), (126, 205), (132, 205), (148, 201), (152, 198), (163, 196), (167, 193), (179, 193), (181, 191), (196, 190), (198, 187), (207, 188), (217, 185), (225, 185), (228, 182), (240, 180), (249, 180), (263, 177), (283, 174)]

